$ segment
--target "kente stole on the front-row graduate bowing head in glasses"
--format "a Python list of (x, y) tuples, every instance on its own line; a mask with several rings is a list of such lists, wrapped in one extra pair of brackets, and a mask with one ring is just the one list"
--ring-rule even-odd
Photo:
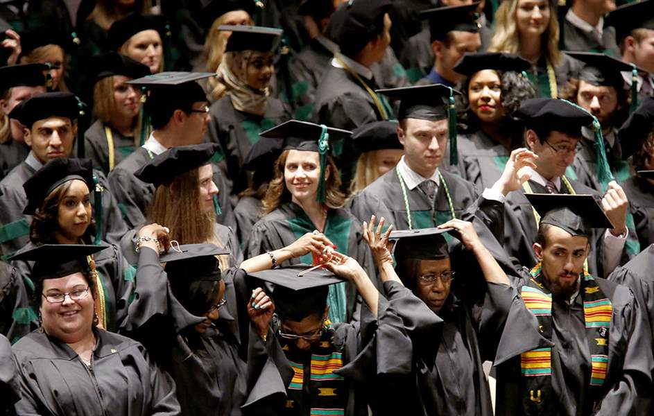
[(329, 320), (326, 324), (322, 338), (311, 347), (310, 363), (294, 360), (289, 345), (282, 347), (293, 368), (293, 379), (286, 388), (284, 415), (304, 415), (307, 408), (311, 416), (345, 415), (347, 383), (334, 374), (334, 370), (343, 367), (343, 354), (332, 344), (334, 330)]

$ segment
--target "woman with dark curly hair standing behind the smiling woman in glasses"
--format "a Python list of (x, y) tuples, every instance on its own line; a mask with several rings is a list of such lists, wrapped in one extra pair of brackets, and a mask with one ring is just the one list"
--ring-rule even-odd
[[(32, 223), (30, 243), (23, 250), (44, 244), (105, 245), (104, 250), (88, 258), (95, 270), (92, 277), (97, 290), (93, 298), (98, 325), (117, 331), (127, 315), (136, 270), (126, 263), (116, 245), (98, 241), (96, 227), (99, 225), (91, 205), (91, 198), (97, 197), (91, 166), (89, 159), (53, 159), (25, 182), (27, 206), (24, 213), (32, 215)], [(147, 229), (139, 230), (139, 234), (147, 235)], [(12, 265), (23, 279), (30, 281), (33, 262), (12, 261)]]

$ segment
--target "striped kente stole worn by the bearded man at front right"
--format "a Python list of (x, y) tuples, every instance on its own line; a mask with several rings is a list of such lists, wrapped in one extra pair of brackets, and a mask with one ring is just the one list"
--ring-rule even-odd
[[(613, 306), (602, 293), (595, 279), (584, 271), (580, 290), (583, 290), (584, 322), (586, 338), (590, 350), (591, 376), (590, 385), (593, 393), (601, 388), (608, 366), (608, 333), (611, 327)], [(522, 300), (526, 308), (538, 321), (540, 333), (548, 340), (552, 339), (552, 294), (542, 284), (542, 265), (538, 263), (531, 269), (531, 279), (522, 286)], [(552, 349), (537, 348), (520, 354), (520, 370), (528, 392), (528, 401), (524, 403), (540, 404), (542, 393), (552, 392)], [(597, 397), (597, 396), (596, 396)], [(552, 397), (552, 399), (555, 399)]]

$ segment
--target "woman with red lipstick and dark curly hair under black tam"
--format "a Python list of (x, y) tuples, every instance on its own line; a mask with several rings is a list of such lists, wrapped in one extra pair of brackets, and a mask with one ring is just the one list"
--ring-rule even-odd
[(464, 75), (461, 118), (467, 125), (458, 137), (458, 169), (464, 179), (483, 191), (504, 171), (512, 150), (522, 145), (522, 128), (512, 114), (535, 89), (520, 73), (529, 62), (508, 53), (468, 53), (454, 71)]

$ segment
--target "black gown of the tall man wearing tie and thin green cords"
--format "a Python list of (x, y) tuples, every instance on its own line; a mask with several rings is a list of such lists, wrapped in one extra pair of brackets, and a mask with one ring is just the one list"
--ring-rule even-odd
[[(477, 199), (474, 186), (447, 171), (441, 170), (442, 178), (447, 184), (452, 198), (454, 215), (461, 218), (463, 211), (468, 209)], [(436, 227), (451, 219), (451, 210), (442, 184), (436, 191), (436, 204), (430, 206), (429, 198), (419, 187), (409, 190), (406, 187), (413, 229)], [(395, 229), (408, 229), (406, 204), (395, 169), (384, 173), (375, 182), (357, 193), (350, 202), (352, 214), (361, 222), (370, 221), (370, 216), (386, 218), (386, 224), (393, 224)]]

